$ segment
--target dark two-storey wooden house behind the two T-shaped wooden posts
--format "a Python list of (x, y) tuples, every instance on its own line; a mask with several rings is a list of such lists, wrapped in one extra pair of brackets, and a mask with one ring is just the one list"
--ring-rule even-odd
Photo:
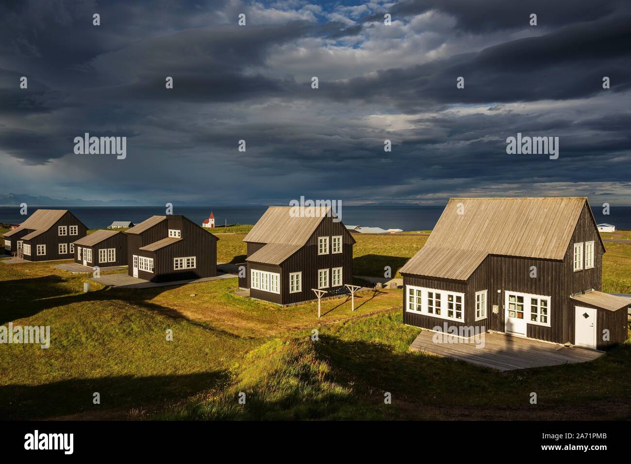
[[(239, 287), (250, 296), (278, 304), (347, 292), (353, 278), (355, 239), (331, 208), (293, 214), (291, 206), (271, 206), (245, 236), (246, 272)], [(309, 208), (307, 208), (309, 210)]]

